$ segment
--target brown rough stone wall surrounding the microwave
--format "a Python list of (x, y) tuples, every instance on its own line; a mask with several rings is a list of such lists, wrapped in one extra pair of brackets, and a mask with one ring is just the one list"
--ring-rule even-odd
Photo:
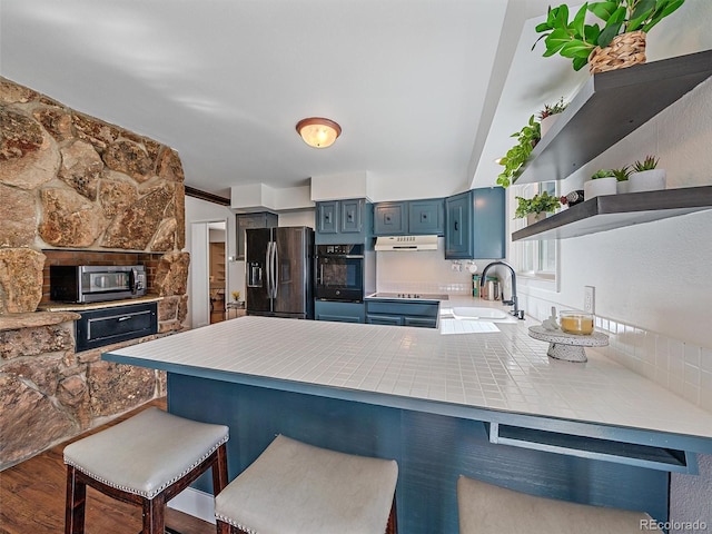
[(184, 246), (174, 150), (0, 78), (0, 469), (165, 394), (101, 360), (146, 338), (75, 353), (79, 316), (41, 310), (49, 265), (146, 265), (161, 336), (186, 327)]

